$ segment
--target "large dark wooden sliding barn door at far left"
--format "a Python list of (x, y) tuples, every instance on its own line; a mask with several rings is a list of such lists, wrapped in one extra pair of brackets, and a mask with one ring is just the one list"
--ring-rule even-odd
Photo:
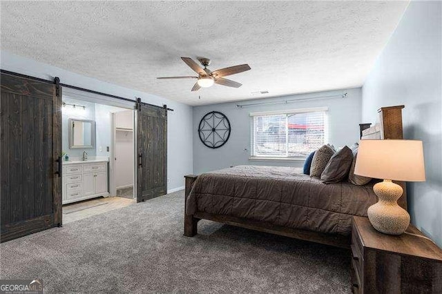
[(0, 153), (1, 242), (61, 225), (60, 87), (1, 74)]

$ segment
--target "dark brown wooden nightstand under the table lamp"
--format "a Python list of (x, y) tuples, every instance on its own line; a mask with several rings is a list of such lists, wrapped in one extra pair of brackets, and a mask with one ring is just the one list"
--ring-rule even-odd
[(442, 293), (442, 250), (412, 225), (385, 235), (353, 217), (351, 249), (354, 293)]

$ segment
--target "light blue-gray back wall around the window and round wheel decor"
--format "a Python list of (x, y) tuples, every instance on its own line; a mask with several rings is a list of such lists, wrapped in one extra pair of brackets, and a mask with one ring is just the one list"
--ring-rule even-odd
[[(228, 168), (233, 165), (254, 164), (268, 166), (302, 166), (302, 161), (250, 161), (250, 112), (284, 110), (296, 108), (313, 108), (327, 106), (329, 108), (329, 141), (335, 146), (354, 144), (359, 139), (361, 123), (361, 88), (316, 92), (304, 95), (291, 95), (269, 99), (242, 101), (238, 104), (282, 101), (287, 99), (305, 99), (319, 96), (341, 95), (347, 92), (347, 98), (318, 99), (298, 101), (291, 104), (273, 104), (237, 108), (237, 103), (213, 104), (193, 108), (193, 170), (204, 173), (210, 170)], [(217, 149), (202, 144), (198, 137), (198, 125), (202, 117), (210, 111), (220, 111), (227, 116), (231, 124), (231, 136), (227, 143)], [(247, 150), (244, 150), (247, 149)]]

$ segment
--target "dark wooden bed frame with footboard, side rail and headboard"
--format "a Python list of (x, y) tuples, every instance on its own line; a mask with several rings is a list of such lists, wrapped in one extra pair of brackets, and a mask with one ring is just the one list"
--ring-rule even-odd
[[(371, 124), (360, 124), (361, 139), (403, 139), (402, 127), (402, 108), (405, 106), (383, 107), (378, 110), (379, 124), (370, 127)], [(198, 175), (186, 175), (186, 189), (184, 197), (184, 205), (187, 197), (191, 192), (192, 186)], [(398, 204), (407, 210), (407, 193), (404, 182), (396, 182), (403, 188), (403, 195), (398, 200)], [(184, 214), (184, 236), (193, 237), (198, 233), (198, 222), (200, 219), (209, 219), (214, 222), (221, 222), (231, 226), (240, 226), (255, 231), (272, 233), (295, 239), (302, 239), (320, 244), (327, 244), (341, 248), (350, 247), (350, 236), (337, 234), (320, 233), (315, 231), (307, 231), (296, 228), (288, 228), (285, 226), (276, 226), (266, 222), (258, 222), (240, 217), (232, 217), (229, 215), (214, 215), (211, 213), (197, 212), (194, 215)]]

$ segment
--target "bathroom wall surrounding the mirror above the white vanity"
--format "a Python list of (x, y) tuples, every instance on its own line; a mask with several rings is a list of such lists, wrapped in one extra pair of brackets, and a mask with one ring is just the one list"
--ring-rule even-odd
[(95, 104), (80, 101), (76, 99), (63, 98), (63, 101), (67, 104), (76, 104), (81, 106), (86, 106), (86, 109), (81, 108), (73, 108), (72, 106), (66, 106), (61, 110), (61, 133), (62, 135), (62, 144), (61, 150), (68, 153), (70, 159), (73, 157), (81, 157), (83, 156), (83, 151), (88, 153), (88, 157), (95, 157), (95, 148), (94, 149), (70, 149), (69, 148), (69, 119), (90, 119), (95, 121)]

